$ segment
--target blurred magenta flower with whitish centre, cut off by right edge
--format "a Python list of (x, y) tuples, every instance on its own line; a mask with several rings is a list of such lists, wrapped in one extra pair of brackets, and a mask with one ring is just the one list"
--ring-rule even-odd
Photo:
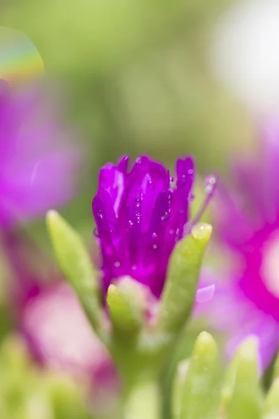
[(197, 304), (212, 324), (228, 334), (231, 356), (247, 335), (259, 340), (260, 367), (279, 348), (279, 121), (266, 124), (259, 156), (234, 166), (234, 192), (220, 185), (216, 205), (219, 244), (228, 249), (228, 281), (203, 275), (200, 286), (215, 284), (213, 298)]

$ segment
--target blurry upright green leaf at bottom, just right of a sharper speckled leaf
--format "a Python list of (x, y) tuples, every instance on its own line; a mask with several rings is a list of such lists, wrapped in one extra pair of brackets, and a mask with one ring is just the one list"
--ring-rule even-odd
[(257, 340), (247, 339), (236, 353), (234, 390), (227, 405), (228, 419), (259, 419), (262, 393), (257, 380)]

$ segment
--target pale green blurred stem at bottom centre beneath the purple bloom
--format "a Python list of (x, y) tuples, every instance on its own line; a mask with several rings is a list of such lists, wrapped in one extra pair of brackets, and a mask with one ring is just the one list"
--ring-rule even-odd
[(136, 383), (126, 396), (124, 419), (160, 419), (160, 390), (154, 381)]

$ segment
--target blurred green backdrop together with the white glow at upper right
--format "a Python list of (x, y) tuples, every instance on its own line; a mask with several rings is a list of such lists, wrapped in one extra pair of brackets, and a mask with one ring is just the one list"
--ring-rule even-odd
[[(88, 242), (105, 162), (194, 154), (201, 175), (225, 178), (279, 108), (277, 0), (4, 0), (0, 26), (36, 45), (81, 133), (79, 193), (61, 213)], [(29, 230), (50, 253), (44, 221)]]

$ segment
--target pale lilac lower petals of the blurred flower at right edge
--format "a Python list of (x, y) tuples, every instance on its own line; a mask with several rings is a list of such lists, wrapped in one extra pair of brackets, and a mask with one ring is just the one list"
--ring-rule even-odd
[[(203, 272), (198, 293), (208, 297), (196, 298), (195, 318), (206, 323), (224, 337), (224, 355), (231, 360), (241, 342), (252, 335), (258, 341), (259, 374), (269, 366), (279, 348), (279, 324), (269, 314), (259, 310), (239, 288), (239, 277), (218, 278), (216, 272)], [(211, 290), (210, 292), (206, 290)]]

